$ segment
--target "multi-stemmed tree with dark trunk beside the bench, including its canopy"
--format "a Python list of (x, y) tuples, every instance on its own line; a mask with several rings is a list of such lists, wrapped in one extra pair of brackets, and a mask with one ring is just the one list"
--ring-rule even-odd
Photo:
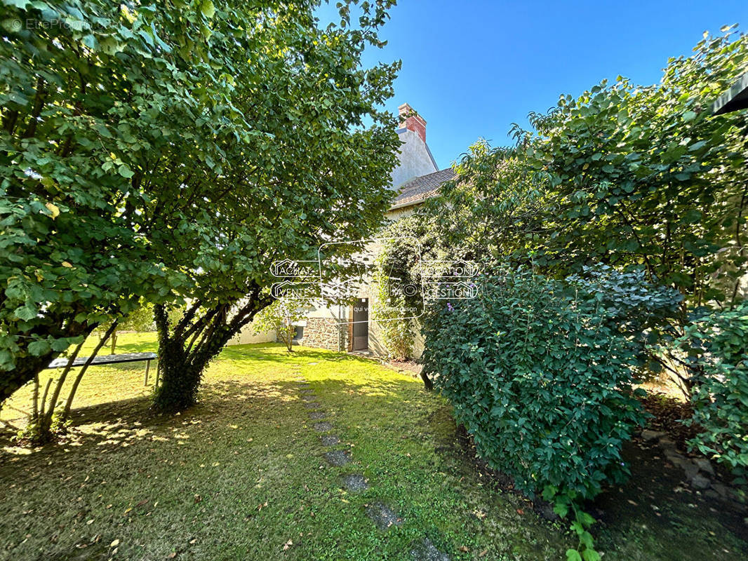
[(252, 19), (250, 44), (236, 37), (231, 66), (242, 79), (231, 103), (252, 134), (227, 145), (221, 173), (211, 176), (213, 189), (227, 194), (210, 211), (220, 227), (191, 227), (194, 237), (180, 246), (192, 260), (183, 269), (185, 313), (172, 325), (168, 307), (156, 305), (159, 410), (194, 403), (206, 364), (272, 302), (274, 260), (316, 259), (322, 243), (360, 239), (381, 224), (399, 141), (393, 116), (378, 106), (392, 95), (399, 65), (367, 69), (361, 55), (381, 45), (389, 5), (361, 4), (354, 28), (345, 4), (341, 25), (321, 29), (313, 4), (292, 4)]

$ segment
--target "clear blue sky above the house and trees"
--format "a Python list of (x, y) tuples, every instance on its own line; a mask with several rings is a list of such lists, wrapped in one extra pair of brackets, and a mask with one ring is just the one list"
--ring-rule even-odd
[[(330, 21), (334, 12), (319, 15)], [(601, 79), (659, 82), (670, 56), (687, 55), (709, 30), (740, 23), (748, 1), (399, 0), (367, 64), (402, 60), (390, 111), (408, 102), (426, 119), (440, 168), (479, 137), (509, 144), (512, 123)], [(335, 18), (337, 19), (337, 18)]]

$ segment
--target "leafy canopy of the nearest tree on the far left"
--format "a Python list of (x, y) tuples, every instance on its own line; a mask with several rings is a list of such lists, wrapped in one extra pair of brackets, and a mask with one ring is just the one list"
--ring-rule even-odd
[(230, 104), (233, 37), (213, 16), (0, 4), (0, 400), (141, 297), (171, 299), (183, 233), (218, 220), (200, 210), (223, 145), (261, 133)]

